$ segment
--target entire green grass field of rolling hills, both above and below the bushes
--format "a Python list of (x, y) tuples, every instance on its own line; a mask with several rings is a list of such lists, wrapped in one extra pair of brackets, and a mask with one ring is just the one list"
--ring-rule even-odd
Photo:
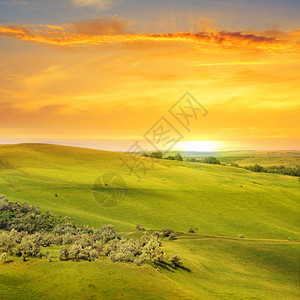
[[(113, 224), (121, 232), (134, 231), (137, 223), (178, 232), (193, 225), (199, 233), (164, 242), (166, 252), (177, 252), (187, 269), (156, 270), (107, 259), (24, 264), (14, 258), (0, 266), (0, 299), (298, 298), (297, 178), (161, 160), (138, 182), (122, 166), (124, 156), (43, 144), (0, 146), (0, 193), (80, 224)], [(128, 188), (124, 201), (110, 208), (92, 193), (106, 172), (122, 176)], [(238, 239), (239, 234), (246, 238)]]

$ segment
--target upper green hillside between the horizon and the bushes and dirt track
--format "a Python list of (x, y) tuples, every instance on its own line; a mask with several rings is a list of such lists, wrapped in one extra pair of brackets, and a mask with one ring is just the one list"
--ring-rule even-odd
[[(1, 193), (81, 224), (112, 223), (118, 231), (132, 230), (136, 223), (177, 231), (193, 225), (206, 234), (299, 239), (297, 178), (160, 160), (137, 182), (121, 166), (121, 156), (54, 145), (1, 146)], [(105, 172), (120, 174), (128, 187), (127, 197), (113, 208), (99, 205), (92, 194)]]

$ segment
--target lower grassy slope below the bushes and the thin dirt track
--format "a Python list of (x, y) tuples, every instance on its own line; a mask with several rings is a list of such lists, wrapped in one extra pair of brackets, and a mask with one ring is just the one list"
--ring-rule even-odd
[(0, 299), (299, 299), (295, 242), (185, 235), (164, 245), (186, 269), (61, 262), (57, 249), (52, 263), (13, 258), (0, 266)]

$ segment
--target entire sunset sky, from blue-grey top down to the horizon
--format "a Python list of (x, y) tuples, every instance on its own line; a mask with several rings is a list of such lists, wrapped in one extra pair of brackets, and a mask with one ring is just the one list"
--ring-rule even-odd
[(300, 150), (299, 15), (298, 0), (0, 0), (0, 143)]

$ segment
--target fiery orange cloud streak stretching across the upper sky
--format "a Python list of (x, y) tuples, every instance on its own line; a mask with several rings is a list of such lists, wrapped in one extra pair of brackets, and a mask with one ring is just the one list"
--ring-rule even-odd
[(109, 43), (189, 42), (202, 47), (217, 46), (224, 49), (254, 49), (271, 54), (300, 54), (299, 31), (274, 33), (273, 36), (225, 31), (129, 34), (129, 25), (128, 21), (119, 18), (96, 19), (67, 26), (11, 25), (0, 27), (0, 36), (64, 47), (99, 46)]

